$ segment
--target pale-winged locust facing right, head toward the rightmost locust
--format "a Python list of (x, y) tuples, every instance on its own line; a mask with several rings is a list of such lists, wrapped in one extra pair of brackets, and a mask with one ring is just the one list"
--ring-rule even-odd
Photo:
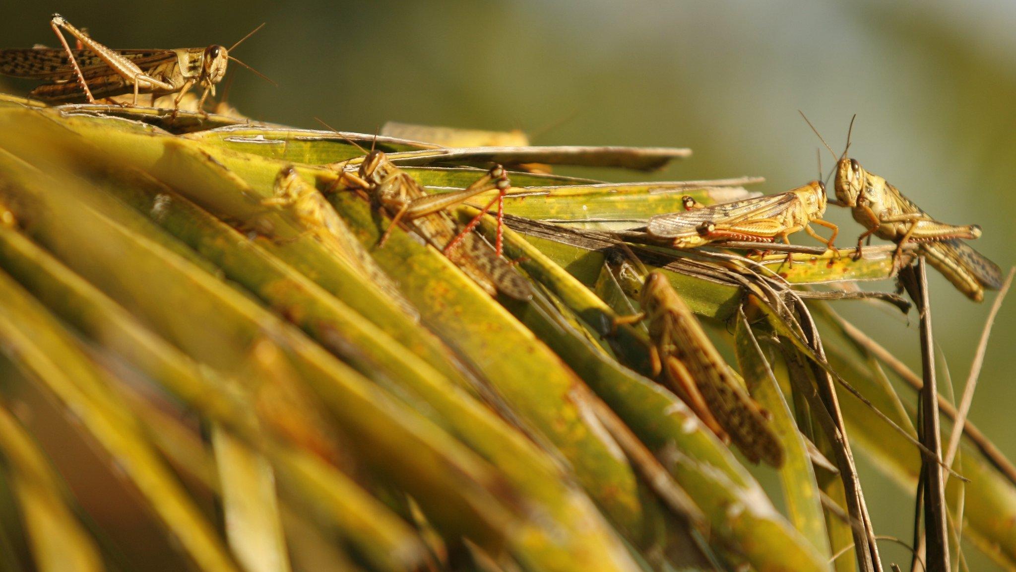
[[(646, 233), (654, 242), (664, 242), (674, 248), (694, 248), (723, 240), (775, 242), (781, 238), (789, 243), (789, 234), (804, 230), (835, 250), (833, 241), (839, 230), (821, 218), (826, 201), (822, 181), (812, 181), (778, 194), (712, 207), (702, 207), (686, 196), (683, 198), (684, 212), (651, 217)], [(811, 223), (831, 228), (832, 235), (822, 238), (812, 230)]]

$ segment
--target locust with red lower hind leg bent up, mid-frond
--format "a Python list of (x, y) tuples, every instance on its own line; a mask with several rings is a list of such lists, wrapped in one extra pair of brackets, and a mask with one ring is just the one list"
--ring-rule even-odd
[[(404, 222), (492, 296), (501, 292), (518, 300), (532, 297), (529, 283), (501, 258), (501, 202), (511, 188), (508, 175), (501, 165), (495, 165), (486, 175), (462, 190), (428, 194), (416, 179), (389, 161), (384, 152), (371, 150), (356, 172), (340, 168), (333, 189), (338, 184), (366, 192), (391, 217), (391, 223), (378, 242), (379, 246), (384, 244), (399, 223)], [(495, 189), (498, 191), (497, 196), (459, 230), (446, 209)], [(495, 203), (498, 204), (499, 224), (496, 247), (492, 248), (486, 240), (471, 231)]]

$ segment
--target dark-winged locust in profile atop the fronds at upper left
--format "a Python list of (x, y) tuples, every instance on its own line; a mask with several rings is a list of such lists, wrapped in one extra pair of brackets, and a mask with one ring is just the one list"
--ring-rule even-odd
[[(50, 25), (63, 49), (0, 50), (0, 73), (51, 81), (37, 87), (29, 94), (40, 100), (79, 100), (83, 92), (88, 103), (93, 104), (97, 96), (108, 98), (133, 92), (132, 105), (135, 106), (139, 94), (151, 94), (153, 100), (157, 96), (180, 94), (175, 101), (175, 105), (179, 105), (184, 94), (196, 84), (204, 88), (198, 105), (201, 109), (208, 95), (215, 95), (215, 84), (226, 74), (229, 60), (258, 73), (231, 56), (230, 52), (261, 26), (229, 49), (212, 45), (176, 50), (113, 50), (74, 27), (60, 14), (53, 14)], [(73, 36), (82, 49), (72, 50), (61, 30)], [(74, 79), (76, 82), (72, 81)]]

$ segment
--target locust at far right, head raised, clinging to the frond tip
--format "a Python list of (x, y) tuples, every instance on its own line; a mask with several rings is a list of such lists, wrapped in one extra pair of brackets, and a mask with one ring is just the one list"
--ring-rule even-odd
[(907, 242), (920, 242), (920, 252), (929, 264), (970, 299), (979, 302), (985, 299), (986, 288), (1002, 287), (998, 265), (960, 240), (980, 236), (979, 226), (936, 221), (895, 186), (866, 171), (853, 159), (844, 158), (837, 163), (835, 188), (837, 201), (848, 207), (853, 220), (868, 229), (858, 238), (859, 258), (862, 242), (872, 234), (898, 245), (894, 264)]

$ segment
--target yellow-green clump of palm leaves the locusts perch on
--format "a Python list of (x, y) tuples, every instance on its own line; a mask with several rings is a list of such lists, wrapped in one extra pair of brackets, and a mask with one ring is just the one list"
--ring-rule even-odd
[[(892, 248), (780, 268), (632, 247), (604, 229), (757, 180), (548, 172), (686, 150), (443, 142), (4, 100), (0, 569), (884, 569), (852, 455), (911, 489), (938, 464), (882, 366), (920, 378), (833, 306), (907, 303), (824, 284), (889, 278)], [(343, 175), (368, 146), (432, 193), (505, 164), (503, 237), (449, 214), (503, 238), (531, 299), (492, 297), (416, 225), (379, 245), (390, 220)], [(327, 203), (266, 202), (291, 166)], [(356, 240), (330, 243), (321, 209)], [(781, 448), (753, 470), (781, 494), (658, 383), (646, 325), (619, 324), (621, 253), (733, 333)], [(952, 540), (1014, 568), (1016, 471), (960, 424)]]

